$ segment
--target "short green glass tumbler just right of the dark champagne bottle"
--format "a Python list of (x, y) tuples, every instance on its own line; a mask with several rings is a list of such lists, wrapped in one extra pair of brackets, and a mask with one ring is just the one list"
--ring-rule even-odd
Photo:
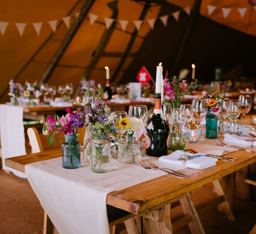
[(174, 151), (180, 149), (184, 150), (186, 145), (186, 137), (182, 131), (173, 131), (169, 134), (169, 146), (168, 153), (173, 153)]

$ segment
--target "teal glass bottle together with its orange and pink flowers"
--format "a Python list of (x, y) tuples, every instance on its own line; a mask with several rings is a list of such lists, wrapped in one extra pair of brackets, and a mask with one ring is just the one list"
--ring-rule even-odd
[(211, 87), (208, 92), (203, 91), (202, 97), (206, 100), (206, 105), (208, 107), (208, 112), (206, 115), (206, 135), (208, 139), (217, 138), (217, 114), (221, 111), (221, 106), (223, 105), (225, 93), (219, 90), (219, 85), (217, 83), (216, 88)]

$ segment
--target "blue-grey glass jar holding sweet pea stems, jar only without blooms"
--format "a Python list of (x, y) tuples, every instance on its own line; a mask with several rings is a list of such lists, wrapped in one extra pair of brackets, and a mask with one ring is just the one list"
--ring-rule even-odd
[(62, 143), (62, 166), (66, 169), (80, 167), (80, 148), (77, 135), (64, 135), (65, 142)]

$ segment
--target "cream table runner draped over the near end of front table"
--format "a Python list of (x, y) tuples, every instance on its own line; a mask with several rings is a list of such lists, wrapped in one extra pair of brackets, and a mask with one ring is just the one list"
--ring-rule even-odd
[[(155, 157), (143, 157), (145, 159), (173, 170), (184, 168), (158, 162)], [(115, 159), (111, 159), (108, 173), (93, 173), (85, 160), (82, 160), (81, 168), (64, 169), (61, 157), (28, 164), (25, 171), (42, 207), (60, 234), (109, 233), (107, 194), (166, 174)], [(172, 180), (170, 176), (170, 183)]]

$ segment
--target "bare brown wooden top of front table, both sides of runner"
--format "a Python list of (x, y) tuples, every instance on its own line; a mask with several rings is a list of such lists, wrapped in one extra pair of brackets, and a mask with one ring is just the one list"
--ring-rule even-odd
[[(256, 150), (256, 147), (250, 148)], [(25, 165), (28, 163), (60, 156), (61, 151), (59, 150), (45, 151), (5, 159), (5, 165), (25, 172)], [(163, 175), (129, 188), (111, 192), (107, 195), (107, 204), (138, 214), (256, 162), (256, 152), (235, 151), (226, 156), (236, 158), (237, 161), (218, 161), (216, 166), (204, 170), (185, 168), (180, 172), (190, 174), (191, 176), (188, 178), (180, 179)]]

